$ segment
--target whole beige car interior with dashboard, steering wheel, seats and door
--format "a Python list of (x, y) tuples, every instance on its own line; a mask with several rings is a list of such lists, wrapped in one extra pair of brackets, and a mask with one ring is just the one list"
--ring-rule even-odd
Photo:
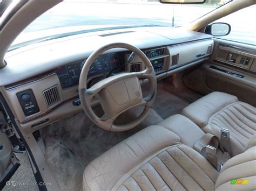
[[(181, 27), (116, 27), (8, 51), (60, 2), (0, 9), (0, 189), (22, 165), (17, 153), (36, 182), (50, 182), (39, 190), (256, 189), (256, 48), (221, 38), (232, 25), (216, 22), (255, 10), (254, 0)], [(160, 1), (186, 2), (205, 1)]]

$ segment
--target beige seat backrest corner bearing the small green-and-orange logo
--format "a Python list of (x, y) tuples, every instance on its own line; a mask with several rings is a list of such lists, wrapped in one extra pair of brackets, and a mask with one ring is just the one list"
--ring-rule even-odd
[(256, 146), (228, 160), (215, 183), (215, 190), (256, 189)]

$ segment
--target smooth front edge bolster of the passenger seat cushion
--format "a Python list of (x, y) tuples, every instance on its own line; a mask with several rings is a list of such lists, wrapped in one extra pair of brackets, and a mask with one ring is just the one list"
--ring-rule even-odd
[(182, 114), (190, 118), (200, 128), (207, 125), (208, 119), (217, 111), (224, 108), (226, 105), (237, 102), (236, 96), (214, 91), (204, 97), (201, 97), (196, 102), (191, 103), (183, 109)]

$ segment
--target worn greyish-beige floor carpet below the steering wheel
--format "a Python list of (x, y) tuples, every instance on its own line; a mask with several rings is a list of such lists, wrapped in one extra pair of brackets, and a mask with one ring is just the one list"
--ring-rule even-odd
[[(84, 113), (67, 117), (42, 129), (46, 146), (45, 158), (62, 190), (82, 190), (83, 171), (90, 161), (127, 137), (146, 126), (158, 124), (199, 98), (187, 88), (174, 88), (170, 84), (158, 82), (156, 101), (146, 119), (125, 132), (109, 132), (93, 124)], [(118, 118), (130, 122), (142, 108), (127, 111)]]

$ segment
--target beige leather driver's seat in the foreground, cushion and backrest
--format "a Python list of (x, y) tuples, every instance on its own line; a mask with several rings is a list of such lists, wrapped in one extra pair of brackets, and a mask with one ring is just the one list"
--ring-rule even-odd
[[(228, 160), (221, 172), (170, 130), (154, 125), (93, 160), (84, 171), (84, 190), (256, 189), (256, 147)], [(247, 185), (231, 185), (249, 179)]]

